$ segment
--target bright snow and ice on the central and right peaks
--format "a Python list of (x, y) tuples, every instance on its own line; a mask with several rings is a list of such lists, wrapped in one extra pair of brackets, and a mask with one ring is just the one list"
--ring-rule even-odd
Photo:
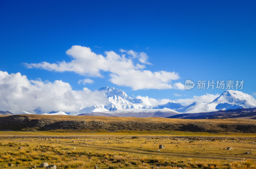
[(179, 113), (200, 113), (236, 108), (256, 107), (256, 100), (251, 95), (235, 90), (227, 90), (223, 92), (219, 97), (210, 103), (194, 102), (190, 105), (183, 105), (174, 101), (163, 105), (145, 105), (141, 99), (131, 98), (124, 91), (115, 89), (114, 87), (102, 87), (99, 89), (99, 91), (103, 91), (104, 95), (108, 97), (109, 104), (101, 105), (101, 108), (98, 108), (96, 105), (93, 107), (84, 108), (86, 111), (82, 112), (80, 110), (76, 113), (76, 115), (79, 113), (84, 114), (92, 112), (108, 113), (107, 111), (112, 111), (109, 113), (113, 114), (114, 112), (120, 113), (119, 110), (127, 110), (131, 111), (132, 113), (133, 110), (138, 108), (141, 109), (141, 112), (146, 112), (147, 109), (168, 108)]

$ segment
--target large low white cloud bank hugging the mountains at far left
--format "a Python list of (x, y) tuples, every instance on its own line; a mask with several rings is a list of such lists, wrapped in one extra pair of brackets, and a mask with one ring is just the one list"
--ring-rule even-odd
[(80, 107), (106, 104), (107, 98), (99, 91), (84, 88), (82, 91), (61, 80), (42, 82), (28, 80), (19, 72), (8, 74), (0, 71), (0, 110), (18, 113), (21, 110), (33, 112), (63, 111), (76, 112)]

